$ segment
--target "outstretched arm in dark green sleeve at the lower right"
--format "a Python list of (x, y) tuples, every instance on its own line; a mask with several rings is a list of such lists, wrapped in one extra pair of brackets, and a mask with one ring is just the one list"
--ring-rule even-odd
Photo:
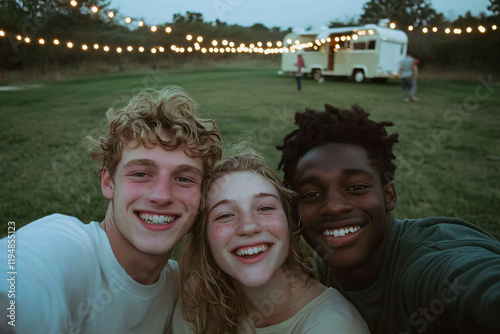
[(484, 240), (453, 247), (453, 242), (463, 243), (442, 244), (405, 271), (402, 286), (410, 326), (420, 332), (440, 332), (447, 326), (456, 333), (498, 331), (499, 244)]

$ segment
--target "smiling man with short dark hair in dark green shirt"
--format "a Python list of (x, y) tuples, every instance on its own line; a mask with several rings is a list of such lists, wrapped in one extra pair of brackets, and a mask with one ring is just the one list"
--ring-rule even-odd
[(498, 240), (455, 218), (394, 219), (393, 124), (325, 109), (297, 113), (278, 146), (321, 281), (372, 333), (499, 333)]

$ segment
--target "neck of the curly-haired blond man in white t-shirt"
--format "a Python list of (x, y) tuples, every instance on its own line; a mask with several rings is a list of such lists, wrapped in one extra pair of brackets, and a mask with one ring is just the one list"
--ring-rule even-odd
[(125, 239), (116, 228), (116, 224), (111, 222), (112, 217), (106, 214), (100, 227), (106, 232), (118, 263), (134, 281), (140, 284), (149, 285), (157, 282), (161, 271), (170, 258), (170, 253), (168, 255), (153, 255), (141, 252)]

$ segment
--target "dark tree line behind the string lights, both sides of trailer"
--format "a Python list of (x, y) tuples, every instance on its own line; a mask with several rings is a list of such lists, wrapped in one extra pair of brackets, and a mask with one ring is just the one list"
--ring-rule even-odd
[[(97, 6), (97, 14), (91, 11)], [(485, 34), (477, 32), (479, 25), (488, 28), (500, 23), (500, 0), (490, 0), (485, 8), (491, 15), (481, 13), (473, 16), (470, 12), (454, 21), (447, 20), (442, 13), (432, 8), (429, 0), (370, 0), (363, 7), (363, 13), (358, 19), (349, 22), (332, 21), (330, 27), (352, 26), (365, 23), (377, 23), (382, 18), (395, 22), (397, 27), (407, 32), (409, 36), (409, 52), (421, 60), (421, 64), (433, 64), (442, 68), (469, 68), (500, 70), (497, 61), (500, 56), (500, 30)], [(7, 34), (0, 38), (0, 67), (3, 69), (37, 68), (48, 71), (58, 64), (78, 64), (80, 62), (113, 62), (123, 67), (124, 62), (151, 63), (157, 62), (159, 55), (150, 52), (133, 52), (117, 54), (110, 52), (82, 52), (81, 44), (98, 43), (115, 46), (142, 45), (146, 50), (163, 45), (187, 45), (186, 35), (203, 36), (205, 45), (212, 39), (221, 38), (238, 43), (256, 41), (280, 41), (291, 31), (291, 28), (266, 27), (256, 23), (251, 27), (237, 24), (227, 24), (220, 20), (205, 21), (201, 13), (186, 12), (173, 15), (171, 22), (158, 26), (158, 32), (152, 33), (149, 27), (126, 25), (123, 20), (110, 19), (106, 13), (117, 12), (110, 7), (108, 0), (80, 0), (77, 6), (72, 6), (67, 0), (3, 0), (0, 2), (0, 29)], [(407, 31), (408, 26), (413, 31)], [(166, 34), (166, 26), (172, 27), (172, 32)], [(439, 34), (423, 34), (421, 28), (438, 27)], [(453, 34), (443, 36), (443, 29), (448, 26), (461, 27), (460, 36)], [(465, 28), (471, 26), (474, 33), (466, 33)], [(30, 36), (32, 41), (26, 43), (17, 40), (17, 35), (23, 38)], [(40, 46), (37, 38), (43, 36), (46, 44)], [(71, 40), (74, 49), (54, 46), (52, 40)], [(193, 41), (190, 45), (193, 44)], [(247, 44), (248, 45), (248, 44)], [(92, 44), (89, 44), (92, 47)], [(170, 51), (170, 50), (168, 50)], [(171, 61), (190, 61), (203, 57), (199, 52), (176, 54), (166, 52), (161, 59)], [(233, 54), (211, 54), (212, 58), (234, 57)], [(279, 57), (279, 56), (274, 56)]]

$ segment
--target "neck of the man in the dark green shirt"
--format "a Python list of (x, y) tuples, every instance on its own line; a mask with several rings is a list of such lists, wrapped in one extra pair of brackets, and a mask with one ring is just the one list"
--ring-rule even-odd
[(373, 250), (372, 256), (364, 265), (348, 269), (334, 268), (334, 280), (342, 290), (364, 290), (375, 283), (384, 266), (387, 242), (391, 235), (392, 224), (394, 224), (394, 220), (389, 225), (389, 231), (384, 240)]

